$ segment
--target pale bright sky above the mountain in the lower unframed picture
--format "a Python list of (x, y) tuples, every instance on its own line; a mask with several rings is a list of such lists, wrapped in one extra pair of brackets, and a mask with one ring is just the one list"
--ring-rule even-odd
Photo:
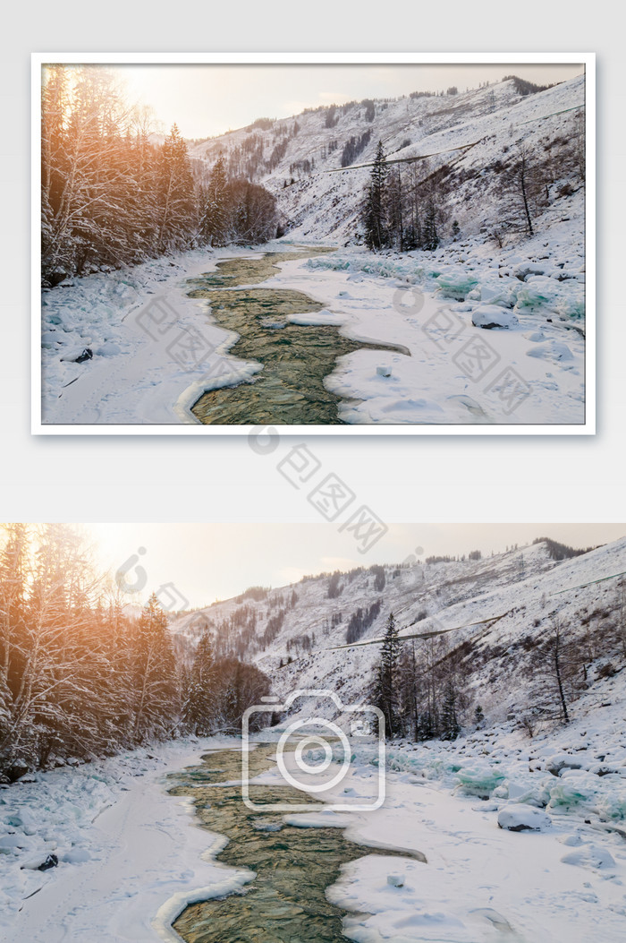
[[(250, 586), (280, 587), (307, 574), (402, 563), (411, 555), (504, 551), (551, 537), (574, 547), (596, 546), (626, 535), (626, 524), (391, 524), (367, 554), (333, 524), (92, 523), (98, 564), (114, 577), (125, 571), (129, 602), (143, 604), (163, 586), (196, 608), (230, 599)], [(141, 553), (144, 551), (144, 553)], [(141, 570), (137, 570), (141, 568)]]

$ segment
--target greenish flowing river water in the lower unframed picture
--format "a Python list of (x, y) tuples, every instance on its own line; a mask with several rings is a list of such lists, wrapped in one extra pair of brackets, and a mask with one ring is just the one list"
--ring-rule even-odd
[[(275, 745), (274, 745), (275, 746)], [(250, 754), (250, 776), (272, 764), (271, 746)], [(326, 899), (341, 866), (365, 854), (406, 852), (364, 848), (338, 828), (296, 828), (282, 813), (254, 813), (241, 799), (240, 786), (217, 783), (241, 778), (241, 753), (222, 750), (203, 757), (203, 765), (176, 773), (174, 795), (191, 796), (203, 825), (226, 835), (228, 845), (217, 860), (256, 872), (243, 891), (194, 903), (174, 923), (187, 943), (339, 943), (345, 911)], [(255, 803), (307, 802), (292, 786), (250, 786)], [(319, 808), (312, 802), (312, 808)], [(419, 852), (415, 857), (425, 860)]]

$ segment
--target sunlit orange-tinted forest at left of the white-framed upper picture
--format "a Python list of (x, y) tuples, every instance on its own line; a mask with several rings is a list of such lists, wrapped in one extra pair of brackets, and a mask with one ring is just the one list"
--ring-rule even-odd
[(276, 234), (263, 187), (208, 174), (174, 124), (165, 141), (102, 66), (51, 65), (41, 106), (41, 277), (133, 265), (203, 244)]

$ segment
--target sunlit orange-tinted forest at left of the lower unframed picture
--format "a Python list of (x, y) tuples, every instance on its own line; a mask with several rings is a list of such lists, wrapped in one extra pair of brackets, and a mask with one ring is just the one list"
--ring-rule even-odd
[(156, 597), (130, 614), (70, 525), (2, 529), (0, 781), (188, 731), (230, 732), (268, 689), (261, 671), (206, 643), (186, 668)]

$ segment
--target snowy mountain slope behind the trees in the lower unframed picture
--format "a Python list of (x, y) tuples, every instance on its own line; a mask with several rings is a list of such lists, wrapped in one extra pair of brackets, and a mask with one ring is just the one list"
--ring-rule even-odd
[[(472, 709), (480, 703), (498, 721), (521, 716), (532, 703), (536, 652), (559, 620), (584, 653), (586, 683), (576, 710), (586, 710), (614, 685), (619, 689), (626, 647), (620, 578), (591, 581), (622, 571), (626, 538), (560, 561), (542, 541), (480, 560), (373, 567), (251, 588), (183, 616), (171, 631), (189, 654), (208, 629), (218, 653), (255, 662), (281, 697), (329, 688), (352, 703), (367, 696), (379, 646), (336, 646), (380, 637), (391, 612), (404, 635), (462, 627), (444, 636), (445, 654), (457, 657)], [(418, 660), (425, 656), (421, 644)]]

